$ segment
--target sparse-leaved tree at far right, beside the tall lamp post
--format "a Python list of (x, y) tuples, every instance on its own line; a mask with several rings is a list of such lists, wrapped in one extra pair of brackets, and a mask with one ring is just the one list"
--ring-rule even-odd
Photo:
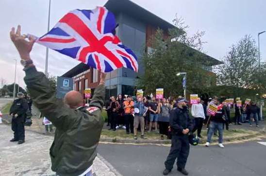
[(217, 67), (219, 84), (234, 88), (259, 87), (258, 50), (250, 35), (245, 35), (233, 44), (223, 62), (223, 65)]

